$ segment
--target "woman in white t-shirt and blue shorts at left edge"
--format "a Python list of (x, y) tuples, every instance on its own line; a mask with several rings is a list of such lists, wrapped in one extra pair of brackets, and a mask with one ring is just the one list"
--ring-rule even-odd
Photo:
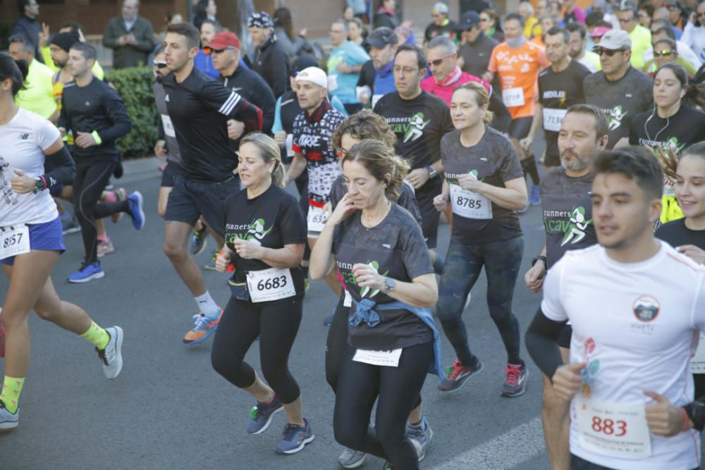
[[(2, 308), (6, 331), (0, 431), (19, 424), (18, 402), (30, 362), (31, 309), (95, 345), (106, 378), (116, 378), (123, 366), (122, 328), (101, 328), (83, 309), (59, 299), (51, 282), (51, 269), (66, 247), (61, 219), (47, 190), (70, 183), (75, 169), (59, 130), (14, 103), (27, 75), (27, 64), (19, 65), (22, 71), (10, 56), (0, 54), (0, 262), (10, 280)], [(48, 173), (45, 160), (53, 163)]]

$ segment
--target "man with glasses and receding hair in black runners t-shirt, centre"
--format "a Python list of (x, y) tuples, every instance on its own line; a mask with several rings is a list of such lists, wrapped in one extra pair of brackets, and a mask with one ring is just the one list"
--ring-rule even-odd
[[(453, 130), (453, 124), (448, 106), (421, 89), (426, 66), (426, 54), (419, 47), (409, 44), (398, 47), (393, 68), (396, 92), (381, 97), (374, 112), (389, 123), (397, 136), (396, 153), (411, 166), (406, 179), (416, 190), (426, 246), (434, 249), (440, 218), (434, 209), (434, 197), (443, 184), (443, 178), (439, 178), (443, 170), (441, 138)], [(431, 256), (437, 271), (443, 266), (441, 259), (435, 252)]]

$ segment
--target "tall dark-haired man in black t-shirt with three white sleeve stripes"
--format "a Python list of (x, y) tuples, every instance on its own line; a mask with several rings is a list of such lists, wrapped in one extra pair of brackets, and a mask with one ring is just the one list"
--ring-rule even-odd
[[(242, 121), (245, 132), (262, 129), (262, 110), (194, 68), (198, 42), (198, 30), (188, 23), (166, 28), (164, 52), (171, 73), (161, 81), (168, 111), (166, 119), (162, 116), (164, 131), (176, 137), (183, 167), (183, 175), (174, 175), (166, 204), (164, 253), (200, 309), (183, 338), (190, 345), (214, 333), (222, 314), (186, 245), (201, 215), (223, 236), (223, 200), (240, 189), (233, 175), (238, 161), (228, 147), (227, 120)], [(222, 246), (222, 240), (217, 241)]]

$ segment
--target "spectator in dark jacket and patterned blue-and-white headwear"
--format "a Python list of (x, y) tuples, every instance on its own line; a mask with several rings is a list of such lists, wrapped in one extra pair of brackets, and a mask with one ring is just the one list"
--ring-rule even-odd
[(247, 20), (247, 30), (256, 48), (252, 70), (262, 75), (275, 98), (281, 97), (289, 86), (289, 57), (273, 34), (271, 17), (264, 11), (252, 13)]

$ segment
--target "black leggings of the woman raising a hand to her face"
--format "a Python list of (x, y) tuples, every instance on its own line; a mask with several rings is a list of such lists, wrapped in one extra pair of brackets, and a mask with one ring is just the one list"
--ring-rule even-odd
[[(406, 420), (434, 360), (434, 343), (405, 347), (398, 367), (355, 362), (353, 354), (353, 347), (346, 345), (333, 414), (336, 440), (345, 447), (388, 459), (396, 469), (418, 469), (416, 450), (406, 437)], [(369, 416), (375, 400), (371, 429)]]

